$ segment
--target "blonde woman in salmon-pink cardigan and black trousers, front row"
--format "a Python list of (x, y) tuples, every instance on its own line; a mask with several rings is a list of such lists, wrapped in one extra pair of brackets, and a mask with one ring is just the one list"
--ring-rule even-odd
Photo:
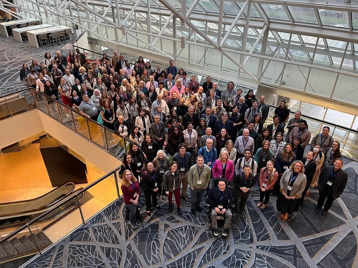
[[(261, 168), (260, 170), (260, 179), (258, 182), (258, 187), (260, 187), (260, 202), (257, 203), (256, 207), (264, 209), (267, 206), (267, 203), (270, 201), (270, 194), (274, 189), (274, 185), (277, 182), (279, 173), (277, 173), (274, 168), (274, 162), (269, 160), (266, 163), (266, 167)], [(263, 198), (265, 197), (265, 202)]]

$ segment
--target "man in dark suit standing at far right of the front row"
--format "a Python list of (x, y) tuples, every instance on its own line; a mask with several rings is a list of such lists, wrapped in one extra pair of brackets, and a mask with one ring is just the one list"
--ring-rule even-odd
[(332, 207), (334, 199), (337, 199), (344, 191), (345, 185), (347, 185), (348, 174), (342, 170), (343, 160), (337, 158), (332, 166), (326, 166), (321, 175), (318, 178), (318, 190), (319, 198), (317, 201), (317, 207), (314, 210), (318, 213), (324, 204), (322, 215), (327, 215), (328, 210)]

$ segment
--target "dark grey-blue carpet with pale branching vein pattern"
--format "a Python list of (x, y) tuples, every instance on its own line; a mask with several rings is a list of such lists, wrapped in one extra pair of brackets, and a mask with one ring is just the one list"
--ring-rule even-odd
[[(23, 62), (58, 49), (34, 49), (13, 38), (0, 38), (0, 45), (0, 94), (21, 88)], [(147, 217), (141, 197), (143, 227), (132, 229), (119, 200), (24, 267), (358, 267), (357, 162), (344, 159), (343, 169), (349, 174), (347, 188), (326, 217), (314, 213), (318, 192), (310, 190), (302, 210), (287, 222), (278, 221), (276, 198), (266, 209), (256, 208), (256, 186), (247, 201), (248, 217), (236, 215), (228, 236), (214, 237), (208, 216), (193, 216), (188, 202), (179, 216), (176, 209), (168, 213), (162, 197), (162, 209)]]

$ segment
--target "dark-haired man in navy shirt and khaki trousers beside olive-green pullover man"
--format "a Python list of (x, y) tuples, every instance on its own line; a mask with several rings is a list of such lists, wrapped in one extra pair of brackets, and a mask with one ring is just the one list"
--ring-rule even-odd
[(179, 153), (176, 153), (173, 156), (173, 161), (178, 164), (179, 169), (179, 188), (182, 184), (182, 198), (185, 201), (188, 201), (187, 188), (188, 188), (188, 173), (189, 169), (192, 166), (192, 155), (187, 150), (187, 145), (185, 143), (180, 143), (178, 146)]

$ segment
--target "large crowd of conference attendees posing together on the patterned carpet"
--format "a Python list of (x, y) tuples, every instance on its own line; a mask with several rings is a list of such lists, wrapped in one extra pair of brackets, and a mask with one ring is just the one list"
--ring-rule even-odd
[[(265, 209), (270, 195), (277, 195), (278, 219), (285, 221), (302, 209), (309, 187), (319, 190), (315, 212), (327, 198), (322, 215), (327, 214), (347, 183), (340, 143), (328, 126), (311, 137), (300, 111), (289, 119), (285, 100), (274, 110), (273, 123), (265, 125), (269, 105), (264, 95), (258, 98), (253, 90), (243, 95), (232, 81), (221, 91), (210, 76), (200, 85), (173, 61), (161, 68), (141, 56), (131, 64), (117, 51), (92, 63), (77, 48), (68, 56), (45, 53), (40, 63), (34, 59), (30, 66), (23, 64), (20, 79), (50, 100), (60, 96), (68, 108), (131, 141), (120, 176), (132, 227), (140, 224), (140, 187), (148, 215), (152, 207), (161, 209), (160, 195), (168, 196), (169, 212), (174, 195), (176, 213), (182, 215), (180, 202), (189, 201), (188, 187), (195, 215), (202, 212), (200, 202), (207, 192), (214, 235), (217, 214), (226, 218), (223, 235), (237, 212), (246, 217), (256, 181), (257, 207)], [(69, 109), (65, 113), (70, 116)], [(111, 135), (107, 142), (114, 142)]]

